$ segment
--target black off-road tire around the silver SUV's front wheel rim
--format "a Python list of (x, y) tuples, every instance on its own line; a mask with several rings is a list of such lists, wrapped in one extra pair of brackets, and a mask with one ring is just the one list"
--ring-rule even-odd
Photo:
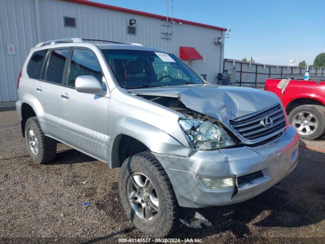
[[(153, 222), (140, 219), (131, 207), (127, 196), (127, 180), (134, 172), (146, 175), (152, 182), (158, 199), (159, 212)], [(144, 151), (128, 157), (120, 168), (118, 187), (120, 198), (127, 217), (137, 229), (151, 237), (166, 237), (180, 226), (180, 211), (171, 181), (158, 160)]]

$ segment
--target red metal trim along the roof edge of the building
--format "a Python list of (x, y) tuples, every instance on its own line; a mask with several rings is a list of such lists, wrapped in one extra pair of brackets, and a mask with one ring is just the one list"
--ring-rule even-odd
[[(90, 2), (90, 1), (87, 1), (87, 0), (67, 0), (67, 1), (73, 2), (73, 3), (78, 3), (78, 4), (85, 4), (85, 5), (94, 6), (94, 7), (100, 7), (100, 8), (104, 8), (104, 9), (110, 9), (110, 10), (125, 12), (125, 13), (143, 15), (143, 16), (156, 18), (156, 19), (162, 19), (162, 20), (167, 19), (167, 17), (163, 16), (163, 15), (150, 14), (150, 13), (146, 13), (146, 12), (142, 12), (142, 11), (137, 11), (137, 10), (132, 10), (132, 9), (125, 9), (125, 8), (116, 7), (116, 6), (112, 6), (112, 5), (106, 5), (106, 4)], [(214, 26), (214, 25), (201, 24), (201, 23), (197, 23), (197, 22), (192, 22), (192, 21), (183, 20), (183, 19), (176, 19), (176, 18), (173, 18), (173, 20), (176, 21), (176, 22), (182, 22), (183, 24), (190, 24), (190, 25), (196, 25), (196, 26), (205, 27), (205, 28), (217, 29), (218, 31), (224, 31), (224, 32), (227, 31), (227, 29), (225, 29), (225, 28)]]

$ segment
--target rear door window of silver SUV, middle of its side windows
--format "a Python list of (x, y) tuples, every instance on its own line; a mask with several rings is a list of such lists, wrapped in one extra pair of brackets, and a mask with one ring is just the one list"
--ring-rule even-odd
[(55, 49), (51, 50), (47, 64), (44, 67), (44, 77), (43, 80), (62, 83), (62, 75), (64, 70), (64, 65), (69, 54), (69, 49)]

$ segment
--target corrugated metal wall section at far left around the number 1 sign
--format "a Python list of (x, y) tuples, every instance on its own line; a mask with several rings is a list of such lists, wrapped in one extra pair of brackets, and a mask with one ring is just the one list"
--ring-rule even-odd
[[(16, 82), (32, 46), (37, 43), (34, 0), (0, 0), (0, 102), (17, 100)], [(9, 55), (7, 44), (14, 44)]]

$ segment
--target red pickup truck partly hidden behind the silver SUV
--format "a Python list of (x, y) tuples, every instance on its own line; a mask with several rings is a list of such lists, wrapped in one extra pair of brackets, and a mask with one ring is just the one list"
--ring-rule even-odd
[(269, 78), (264, 89), (278, 95), (301, 138), (313, 140), (324, 134), (325, 80)]

